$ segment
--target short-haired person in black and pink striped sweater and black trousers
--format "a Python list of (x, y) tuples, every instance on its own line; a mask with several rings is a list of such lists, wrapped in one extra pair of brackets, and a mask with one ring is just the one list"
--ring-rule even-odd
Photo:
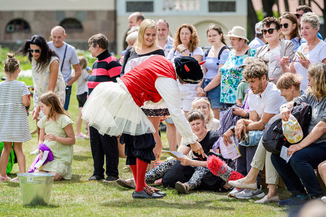
[[(92, 57), (96, 57), (93, 64), (91, 76), (87, 81), (88, 96), (92, 90), (101, 82), (117, 82), (120, 77), (121, 64), (108, 51), (109, 40), (103, 34), (92, 36), (89, 40), (89, 51)], [(119, 149), (116, 137), (109, 135), (101, 135), (90, 126), (91, 154), (94, 161), (94, 172), (89, 180), (104, 179), (104, 155), (106, 156), (106, 174), (107, 178), (103, 181), (111, 182), (118, 179)]]

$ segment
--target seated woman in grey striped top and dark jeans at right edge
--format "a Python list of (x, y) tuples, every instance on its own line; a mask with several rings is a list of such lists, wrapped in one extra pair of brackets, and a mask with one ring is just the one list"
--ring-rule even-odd
[(288, 157), (291, 156), (288, 163), (279, 155), (271, 156), (272, 164), (292, 193), (289, 199), (280, 200), (279, 206), (301, 205), (309, 196), (311, 199), (324, 196), (314, 169), (326, 158), (326, 64), (310, 65), (308, 81), (308, 93), (280, 107), (280, 118), (288, 120), (294, 103), (306, 102), (312, 107), (312, 117), (308, 124), (308, 136), (288, 148)]

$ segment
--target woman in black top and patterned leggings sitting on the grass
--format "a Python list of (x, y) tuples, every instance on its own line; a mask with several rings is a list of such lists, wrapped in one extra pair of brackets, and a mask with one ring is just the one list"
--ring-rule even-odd
[[(198, 142), (201, 144), (204, 153), (207, 155), (213, 147), (213, 144), (217, 141), (217, 133), (206, 128), (205, 118), (201, 111), (191, 110), (187, 115), (187, 120), (190, 123), (191, 129), (194, 134), (198, 137)], [(182, 152), (183, 155), (187, 155), (190, 151), (190, 145), (182, 146), (179, 152)], [(155, 167), (154, 169), (148, 171), (145, 175), (145, 182), (152, 183), (163, 176), (172, 169), (172, 167), (177, 163), (177, 160), (181, 161), (182, 166), (193, 166), (196, 167), (192, 177), (184, 183), (180, 181), (175, 183), (175, 188), (178, 193), (187, 193), (189, 190), (194, 190), (198, 188), (201, 184), (201, 179), (204, 175), (206, 168), (206, 158), (201, 159), (201, 156), (197, 153), (194, 153), (197, 157), (196, 159), (189, 158), (176, 158), (165, 161), (163, 164)], [(117, 183), (126, 188), (135, 188), (134, 179), (121, 179), (117, 180)], [(225, 182), (223, 183), (225, 184)], [(222, 186), (223, 186), (222, 184)], [(226, 184), (228, 185), (228, 184)], [(224, 185), (226, 188), (228, 186)], [(169, 187), (174, 187), (169, 185)]]

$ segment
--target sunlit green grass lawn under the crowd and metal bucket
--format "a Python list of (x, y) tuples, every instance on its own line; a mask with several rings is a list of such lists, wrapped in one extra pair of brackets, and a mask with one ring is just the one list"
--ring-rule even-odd
[[(21, 78), (27, 84), (32, 80)], [(78, 103), (75, 96), (76, 87), (72, 87), (69, 114), (76, 122)], [(31, 102), (33, 108), (33, 100)], [(31, 130), (36, 128), (31, 121)], [(84, 124), (83, 124), (84, 126)], [(75, 124), (74, 124), (75, 130)], [(83, 131), (85, 129), (83, 127)], [(168, 149), (165, 132), (162, 132), (163, 148)], [(26, 156), (26, 168), (31, 165), (35, 156), (29, 153), (37, 147), (37, 135), (23, 143)], [(101, 181), (88, 181), (93, 172), (93, 160), (89, 139), (76, 139), (73, 146), (72, 180), (55, 182), (48, 205), (24, 206), (19, 183), (0, 183), (0, 216), (225, 216), (225, 217), (280, 217), (287, 216), (286, 210), (277, 203), (254, 204), (254, 199), (235, 199), (227, 197), (227, 193), (193, 191), (187, 195), (178, 195), (176, 190), (164, 189), (167, 196), (163, 199), (133, 199), (133, 190), (108, 185)], [(167, 156), (163, 154), (163, 159)], [(123, 169), (126, 160), (120, 158), (119, 176), (131, 178), (130, 170)], [(15, 164), (11, 178), (16, 177), (18, 165)], [(163, 187), (159, 187), (163, 189)], [(42, 191), (42, 189), (39, 189)], [(267, 193), (267, 189), (264, 190)], [(290, 194), (284, 188), (279, 189), (281, 199)]]

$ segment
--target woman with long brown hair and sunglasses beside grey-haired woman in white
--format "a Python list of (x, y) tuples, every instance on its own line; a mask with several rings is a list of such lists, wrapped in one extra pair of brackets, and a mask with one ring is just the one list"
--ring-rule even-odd
[(278, 19), (281, 23), (281, 40), (291, 40), (294, 45), (294, 52), (297, 51), (298, 47), (307, 42), (306, 39), (302, 38), (299, 33), (298, 20), (295, 15), (290, 12), (285, 12)]

